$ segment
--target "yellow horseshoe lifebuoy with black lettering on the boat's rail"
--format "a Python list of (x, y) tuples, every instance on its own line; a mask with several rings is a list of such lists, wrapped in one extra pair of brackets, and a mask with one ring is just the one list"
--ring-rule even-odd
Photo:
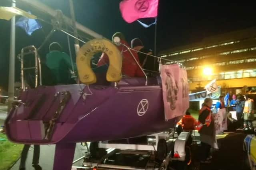
[(106, 79), (109, 82), (118, 82), (122, 72), (122, 54), (111, 41), (106, 39), (92, 39), (78, 51), (76, 65), (80, 81), (84, 84), (96, 83), (97, 78), (92, 71), (90, 61), (94, 54), (104, 52), (108, 55), (109, 66)]

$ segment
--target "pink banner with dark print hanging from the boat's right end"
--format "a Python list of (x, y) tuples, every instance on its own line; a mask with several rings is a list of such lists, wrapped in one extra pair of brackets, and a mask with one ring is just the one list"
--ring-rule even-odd
[(160, 65), (165, 119), (184, 115), (189, 107), (186, 70), (178, 64)]

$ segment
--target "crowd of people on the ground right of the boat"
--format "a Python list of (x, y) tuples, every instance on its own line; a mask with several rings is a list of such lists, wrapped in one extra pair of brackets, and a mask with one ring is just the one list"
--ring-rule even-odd
[[(236, 111), (238, 129), (244, 127), (253, 126), (252, 121), (254, 119), (254, 100), (246, 95), (233, 95), (232, 100), (228, 102), (228, 106), (225, 107), (224, 96), (219, 97), (219, 101), (216, 105), (212, 106), (212, 99), (206, 98), (202, 104), (202, 108), (198, 114), (198, 120), (194, 119), (187, 111), (186, 115), (177, 123), (182, 126), (183, 131), (192, 131), (197, 129), (200, 134), (200, 162), (210, 163), (212, 156), (210, 155), (210, 149), (216, 148), (216, 134), (214, 123), (214, 109), (226, 109), (229, 111)], [(179, 130), (180, 131), (180, 130)]]

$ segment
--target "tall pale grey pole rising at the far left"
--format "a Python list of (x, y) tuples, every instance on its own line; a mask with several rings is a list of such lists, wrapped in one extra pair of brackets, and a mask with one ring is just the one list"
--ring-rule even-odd
[[(16, 6), (16, 0), (12, 0), (12, 7)], [(9, 57), (9, 80), (8, 80), (8, 111), (12, 107), (14, 100), (14, 83), (15, 83), (15, 16), (11, 20), (10, 32), (10, 57)]]

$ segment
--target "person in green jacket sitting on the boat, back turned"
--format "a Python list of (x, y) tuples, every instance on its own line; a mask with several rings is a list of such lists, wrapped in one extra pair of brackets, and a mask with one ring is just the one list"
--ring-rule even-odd
[(57, 84), (74, 84), (75, 80), (71, 78), (72, 64), (70, 57), (61, 52), (61, 46), (57, 42), (53, 42), (49, 46), (46, 55), (46, 65), (50, 68), (56, 77)]

